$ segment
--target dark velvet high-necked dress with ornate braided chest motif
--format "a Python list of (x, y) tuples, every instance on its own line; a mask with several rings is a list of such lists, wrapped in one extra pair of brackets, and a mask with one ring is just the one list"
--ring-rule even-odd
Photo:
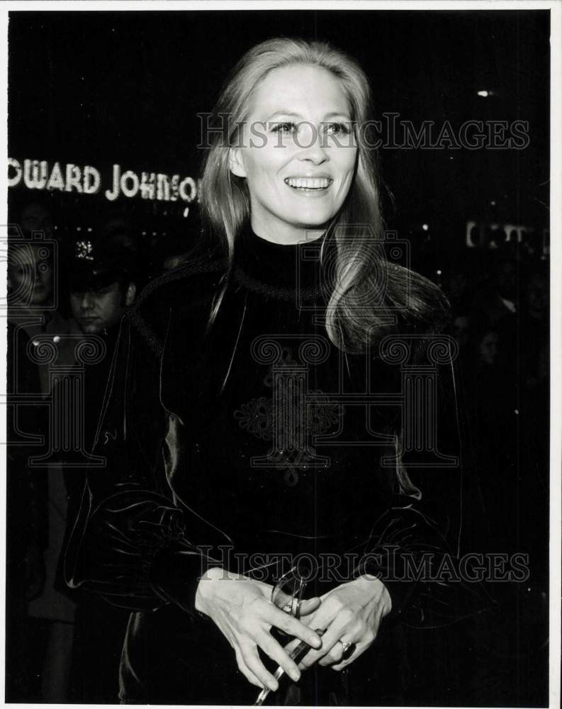
[(94, 451), (107, 467), (89, 474), (66, 560), (71, 585), (132, 611), (122, 701), (254, 702), (227, 640), (194, 608), (208, 566), (274, 583), (300, 555), (314, 567), (310, 595), (365, 572), (389, 590), (392, 612), (349, 670), (285, 678), (271, 703), (399, 704), (403, 624), (465, 612), (459, 586), (410, 573), (422, 554), (437, 569), (459, 552), (446, 338), (396, 325), (386, 349), (342, 353), (325, 330), (319, 245), (248, 230), (210, 328), (224, 284), (213, 261), (150, 284), (123, 320)]

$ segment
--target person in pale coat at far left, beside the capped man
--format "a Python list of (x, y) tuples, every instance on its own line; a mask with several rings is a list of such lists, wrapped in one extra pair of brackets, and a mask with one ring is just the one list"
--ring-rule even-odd
[[(19, 333), (18, 337), (26, 333), (30, 338), (30, 351), (40, 354), (43, 348), (46, 352), (47, 347), (56, 347), (56, 364), (69, 367), (75, 362), (74, 345), (78, 330), (73, 320), (66, 320), (55, 309), (57, 261), (50, 213), (45, 206), (33, 201), (23, 206), (18, 221), (22, 235), (9, 243), (10, 323)], [(43, 234), (43, 240), (37, 238), (38, 234)], [(21, 352), (21, 357), (22, 362), (26, 362), (24, 371), (37, 368), (39, 379), (35, 393), (48, 398), (52, 386), (50, 363), (43, 358), (35, 364), (37, 359), (28, 359), (33, 354), (27, 355), (25, 350)], [(43, 423), (46, 425), (46, 420)], [(27, 613), (30, 618), (37, 619), (33, 623), (37, 624), (39, 620), (47, 630), (41, 696), (47, 702), (57, 703), (67, 700), (76, 610), (75, 599), (65, 586), (59, 567), (64, 548), (68, 499), (60, 467), (42, 470), (39, 478), (40, 486), (46, 486), (47, 529), (43, 535), (43, 547), (30, 549), (28, 559), (36, 574), (41, 570), (44, 577), (40, 584), (36, 584), (35, 592), (30, 594)]]

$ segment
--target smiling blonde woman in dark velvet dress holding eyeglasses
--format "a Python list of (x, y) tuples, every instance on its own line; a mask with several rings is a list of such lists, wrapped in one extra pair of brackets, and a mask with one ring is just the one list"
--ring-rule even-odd
[[(108, 469), (89, 476), (67, 574), (135, 611), (124, 702), (252, 703), (263, 687), (274, 703), (400, 702), (392, 618), (429, 617), (423, 598), (446, 589), (402, 572), (456, 544), (458, 439), (454, 424), (453, 455), (403, 446), (431, 467), (421, 513), (397, 457), (397, 363), (423, 359), (446, 301), (384, 258), (370, 102), (329, 45), (247, 52), (215, 107), (206, 248), (123, 322), (98, 433)], [(297, 557), (313, 567), (300, 620), (272, 600)]]

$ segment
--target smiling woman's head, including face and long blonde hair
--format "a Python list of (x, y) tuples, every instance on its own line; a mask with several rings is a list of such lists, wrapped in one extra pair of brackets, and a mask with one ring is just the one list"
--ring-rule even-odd
[[(257, 45), (232, 70), (214, 108), (201, 184), (203, 214), (225, 240), (229, 262), (248, 222), (261, 238), (285, 244), (330, 235), (337, 257), (326, 329), (350, 351), (388, 323), (386, 308), (435, 323), (446, 310), (431, 281), (380, 258), (378, 166), (369, 144), (357, 140), (372, 123), (372, 105), (363, 69), (327, 43)], [(329, 184), (303, 189), (309, 177)], [(294, 179), (300, 187), (288, 184)], [(359, 233), (350, 238), (350, 229)]]

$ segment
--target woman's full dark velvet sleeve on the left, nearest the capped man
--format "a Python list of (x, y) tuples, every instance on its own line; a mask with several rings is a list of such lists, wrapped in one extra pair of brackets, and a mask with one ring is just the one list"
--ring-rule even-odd
[[(163, 328), (166, 318), (160, 308)], [(181, 422), (160, 399), (162, 339), (149, 322), (137, 309), (121, 323), (64, 574), (72, 588), (124, 608), (156, 610), (172, 602), (196, 613), (198, 579), (214, 562), (191, 539), (189, 513), (167, 480)]]

